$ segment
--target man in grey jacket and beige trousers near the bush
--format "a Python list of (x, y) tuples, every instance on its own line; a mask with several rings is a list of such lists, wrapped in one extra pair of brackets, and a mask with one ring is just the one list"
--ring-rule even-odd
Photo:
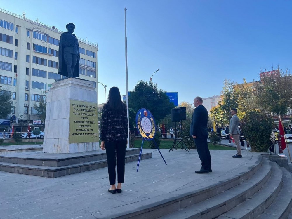
[(230, 110), (230, 113), (232, 115), (230, 122), (229, 122), (229, 135), (234, 139), (236, 149), (237, 149), (237, 154), (232, 156), (234, 158), (240, 158), (241, 156), (241, 144), (239, 140), (240, 136), (240, 130), (238, 128), (239, 126), (239, 118), (237, 117), (237, 109), (233, 108)]

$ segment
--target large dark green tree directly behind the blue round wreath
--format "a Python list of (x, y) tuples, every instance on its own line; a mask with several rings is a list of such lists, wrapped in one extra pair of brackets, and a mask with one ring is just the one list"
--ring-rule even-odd
[(129, 124), (130, 129), (135, 124), (136, 112), (141, 108), (148, 109), (156, 121), (163, 119), (174, 108), (169, 102), (165, 91), (158, 89), (157, 84), (139, 81), (129, 95)]

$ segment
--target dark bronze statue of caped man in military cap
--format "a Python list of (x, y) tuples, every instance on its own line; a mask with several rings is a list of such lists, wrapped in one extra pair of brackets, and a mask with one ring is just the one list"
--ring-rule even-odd
[(66, 25), (67, 32), (62, 33), (59, 43), (59, 69), (58, 73), (69, 77), (79, 77), (79, 44), (73, 34), (75, 25)]

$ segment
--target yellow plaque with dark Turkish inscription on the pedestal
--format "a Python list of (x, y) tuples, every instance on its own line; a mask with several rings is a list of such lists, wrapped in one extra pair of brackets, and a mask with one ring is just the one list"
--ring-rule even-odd
[(98, 142), (97, 103), (70, 100), (69, 143)]

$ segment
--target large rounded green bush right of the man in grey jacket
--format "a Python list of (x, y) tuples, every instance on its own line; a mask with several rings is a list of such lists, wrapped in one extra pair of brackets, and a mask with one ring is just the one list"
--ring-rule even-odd
[(259, 110), (251, 110), (241, 119), (241, 127), (252, 152), (268, 151), (273, 127), (272, 119)]

